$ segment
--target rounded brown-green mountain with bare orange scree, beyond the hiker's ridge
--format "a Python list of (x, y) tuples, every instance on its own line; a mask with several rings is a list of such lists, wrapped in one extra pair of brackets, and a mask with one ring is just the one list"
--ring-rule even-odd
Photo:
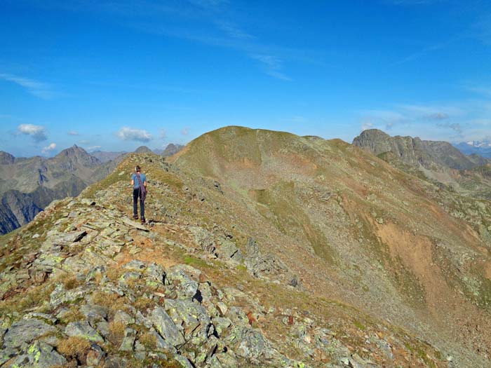
[[(238, 203), (274, 225), (250, 221), (250, 231), (269, 235), (264, 247), (330, 295), (404, 325), (431, 326), (419, 330), (438, 325), (446, 336), (462, 325), (441, 311), (469, 323), (487, 308), (489, 202), (454, 197), (344, 142), (281, 132), (210, 132), (175, 165), (233, 188)], [(476, 205), (483, 210), (470, 218)], [(480, 261), (462, 264), (464, 254)]]

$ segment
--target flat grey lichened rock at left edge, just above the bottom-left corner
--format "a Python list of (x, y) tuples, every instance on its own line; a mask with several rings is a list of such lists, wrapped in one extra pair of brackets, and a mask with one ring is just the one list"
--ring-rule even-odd
[(18, 348), (23, 343), (30, 343), (40, 336), (56, 331), (58, 330), (54, 326), (37, 318), (20, 320), (8, 328), (4, 336), (4, 348)]

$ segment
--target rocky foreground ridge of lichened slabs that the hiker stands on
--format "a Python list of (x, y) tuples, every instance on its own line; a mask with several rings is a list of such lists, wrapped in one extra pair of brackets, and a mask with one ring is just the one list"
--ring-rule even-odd
[[(203, 180), (196, 191), (171, 180), (166, 172), (173, 168), (160, 160), (130, 156), (79, 198), (55, 201), (2, 238), (0, 366), (446, 367), (452, 361), (408, 332), (305, 292), (301, 275), (262, 252), (254, 234), (241, 240), (238, 225), (187, 222), (181, 214), (211, 193), (222, 196), (220, 183)], [(148, 218), (154, 220), (147, 226), (128, 219), (127, 180), (119, 180), (135, 162), (161, 174), (152, 175)], [(176, 198), (188, 207), (171, 206)]]

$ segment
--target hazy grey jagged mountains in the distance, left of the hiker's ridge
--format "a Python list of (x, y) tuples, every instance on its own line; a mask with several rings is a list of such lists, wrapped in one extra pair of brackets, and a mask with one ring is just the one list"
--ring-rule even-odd
[[(135, 152), (171, 156), (182, 147), (169, 144), (164, 150), (152, 151), (140, 146)], [(124, 151), (88, 154), (76, 145), (53, 158), (15, 158), (0, 151), (0, 234), (32, 221), (55, 199), (78, 196), (86, 186), (108, 175), (127, 154)]]

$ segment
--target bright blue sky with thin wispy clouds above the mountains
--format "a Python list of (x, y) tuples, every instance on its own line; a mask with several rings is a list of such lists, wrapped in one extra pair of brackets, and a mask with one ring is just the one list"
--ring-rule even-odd
[(0, 0), (0, 149), (491, 135), (491, 1)]

